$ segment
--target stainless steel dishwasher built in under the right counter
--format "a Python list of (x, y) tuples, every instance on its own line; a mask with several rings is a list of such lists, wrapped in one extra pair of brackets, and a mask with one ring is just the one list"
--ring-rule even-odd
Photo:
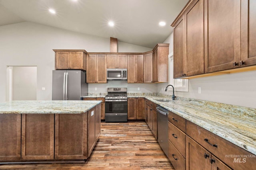
[(157, 134), (158, 143), (166, 156), (168, 157), (168, 110), (159, 105), (156, 106), (157, 110)]

